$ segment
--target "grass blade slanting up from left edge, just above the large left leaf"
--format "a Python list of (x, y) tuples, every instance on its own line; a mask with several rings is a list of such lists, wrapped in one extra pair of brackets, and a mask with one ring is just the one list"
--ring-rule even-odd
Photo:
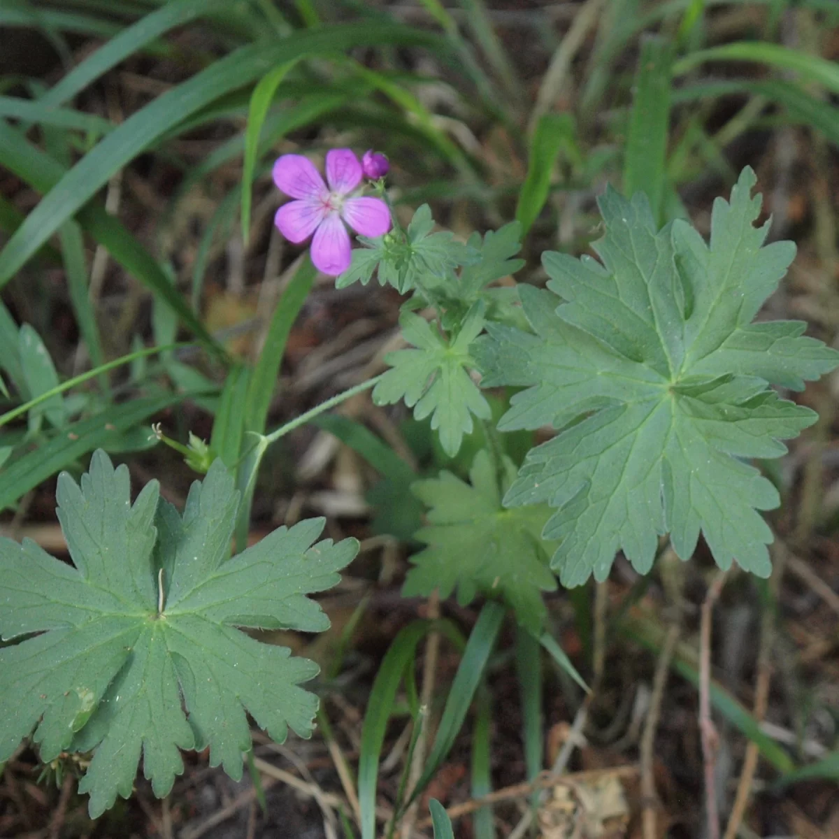
[(0, 470), (0, 510), (11, 507), (30, 489), (89, 451), (96, 448), (107, 451), (109, 442), (120, 440), (123, 431), (169, 408), (169, 405), (182, 402), (184, 398), (183, 393), (167, 393), (132, 399), (109, 409), (107, 414), (67, 425), (52, 440), (28, 451), (18, 461)]

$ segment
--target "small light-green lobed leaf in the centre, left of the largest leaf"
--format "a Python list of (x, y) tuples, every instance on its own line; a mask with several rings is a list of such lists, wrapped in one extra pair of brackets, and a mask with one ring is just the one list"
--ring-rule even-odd
[(470, 347), (483, 329), (484, 305), (472, 306), (451, 344), (434, 326), (412, 312), (399, 318), (402, 333), (414, 349), (390, 352), (391, 369), (373, 389), (373, 401), (388, 405), (404, 399), (417, 420), (431, 417), (440, 445), (450, 457), (457, 454), (463, 435), (472, 431), (472, 414), (488, 420), (491, 412), (467, 368), (476, 367)]

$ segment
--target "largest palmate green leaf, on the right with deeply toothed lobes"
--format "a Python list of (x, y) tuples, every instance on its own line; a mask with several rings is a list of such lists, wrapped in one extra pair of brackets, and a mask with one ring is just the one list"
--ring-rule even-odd
[(743, 458), (784, 454), (779, 440), (816, 420), (769, 385), (801, 388), (839, 353), (803, 323), (751, 322), (795, 255), (791, 242), (762, 247), (754, 183), (745, 169), (731, 201), (717, 199), (710, 246), (685, 221), (657, 231), (643, 195), (608, 190), (602, 264), (546, 253), (554, 294), (519, 289), (536, 334), (490, 325), (476, 347), (484, 386), (528, 388), (499, 429), (561, 429), (504, 503), (557, 508), (543, 535), (561, 539), (552, 565), (565, 586), (605, 579), (618, 550), (646, 573), (667, 532), (683, 559), (701, 531), (722, 568), (769, 575), (772, 534), (756, 511), (779, 497)]

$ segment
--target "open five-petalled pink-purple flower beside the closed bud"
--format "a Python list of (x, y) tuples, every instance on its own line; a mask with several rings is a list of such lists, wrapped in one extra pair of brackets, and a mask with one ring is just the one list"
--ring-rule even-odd
[(350, 237), (345, 221), (362, 236), (383, 236), (390, 229), (390, 211), (384, 201), (348, 197), (361, 180), (362, 166), (352, 149), (331, 149), (326, 153), (328, 189), (314, 164), (301, 154), (284, 154), (274, 164), (274, 183), (296, 199), (279, 208), (274, 224), (295, 244), (314, 233), (312, 263), (331, 277), (350, 267)]

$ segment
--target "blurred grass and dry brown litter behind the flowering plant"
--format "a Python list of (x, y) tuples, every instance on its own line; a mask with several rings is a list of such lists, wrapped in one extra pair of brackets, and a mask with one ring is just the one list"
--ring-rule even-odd
[[(835, 0), (2, 0), (3, 532), (63, 550), (55, 475), (96, 447), (183, 503), (190, 432), (233, 468), (248, 430), (384, 368), (399, 297), (336, 289), (282, 241), (285, 152), (381, 150), (406, 220), (427, 201), (464, 240), (518, 218), (533, 284), (543, 250), (597, 238), (607, 182), (707, 232), (749, 164), (771, 237), (799, 244), (769, 315), (836, 346), (837, 56)], [(618, 561), (547, 598), (553, 656), (492, 604), (400, 597), (423, 510), (409, 484), (466, 477), (480, 440), (451, 461), (425, 424), (347, 401), (266, 452), (239, 532), (326, 514), (362, 539), (324, 598), (331, 632), (274, 638), (321, 665), (319, 736), (258, 739), (241, 787), (193, 755), (168, 799), (138, 779), (95, 823), (75, 763), (23, 751), (0, 835), (429, 835), (434, 796), (478, 839), (698, 836), (709, 785), (729, 836), (835, 835), (836, 381), (807, 389), (821, 421), (775, 468), (769, 583), (701, 551), (648, 578)], [(549, 767), (565, 780), (540, 782)]]

